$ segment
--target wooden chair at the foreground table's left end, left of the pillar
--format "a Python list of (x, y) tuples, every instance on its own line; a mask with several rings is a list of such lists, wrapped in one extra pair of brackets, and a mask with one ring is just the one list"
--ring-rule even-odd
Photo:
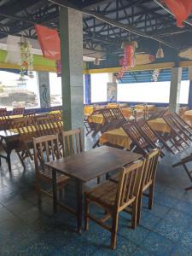
[[(47, 191), (42, 188), (41, 182), (50, 183), (52, 181), (52, 170), (45, 166), (50, 160), (60, 159), (58, 136), (48, 135), (43, 137), (33, 138), (35, 173), (37, 179), (38, 203), (41, 204), (41, 194), (52, 196), (52, 191)], [(58, 189), (61, 189), (68, 181), (69, 177), (57, 172), (56, 182)]]

